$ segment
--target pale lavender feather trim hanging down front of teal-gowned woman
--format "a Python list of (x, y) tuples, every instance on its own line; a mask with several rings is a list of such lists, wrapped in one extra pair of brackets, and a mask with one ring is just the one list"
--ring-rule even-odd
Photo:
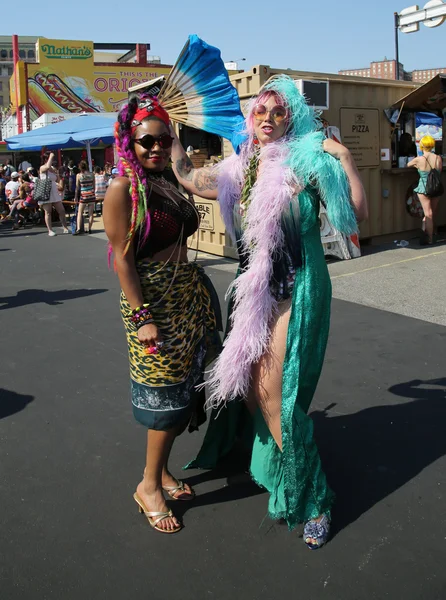
[[(277, 301), (270, 291), (272, 256), (283, 246), (281, 217), (302, 186), (285, 166), (284, 144), (268, 144), (260, 151), (260, 169), (251, 191), (251, 203), (243, 234), (250, 248), (247, 270), (232, 284), (234, 310), (227, 336), (208, 379), (211, 395), (208, 406), (246, 397), (251, 368), (265, 353), (270, 342), (270, 323)], [(219, 174), (219, 201), (225, 225), (234, 232), (233, 207), (240, 198), (246, 156), (231, 156), (222, 163)], [(231, 288), (230, 288), (231, 289)]]

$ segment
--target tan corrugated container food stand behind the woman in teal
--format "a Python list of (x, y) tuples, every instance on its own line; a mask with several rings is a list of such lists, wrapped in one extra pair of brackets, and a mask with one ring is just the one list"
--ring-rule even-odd
[[(361, 240), (379, 242), (388, 236), (407, 235), (419, 229), (420, 220), (406, 211), (407, 190), (417, 181), (418, 174), (416, 169), (398, 167), (398, 128), (390, 122), (386, 111), (390, 107), (398, 113), (401, 111), (401, 115), (409, 110), (444, 112), (445, 76), (437, 76), (419, 86), (407, 81), (309, 73), (258, 65), (250, 71), (231, 76), (242, 107), (271, 76), (280, 73), (303, 82), (327, 84), (328, 108), (322, 110), (321, 116), (327, 126), (340, 131), (342, 142), (356, 160), (368, 198), (369, 218), (361, 223)], [(307, 89), (311, 88), (308, 86)], [(223, 155), (228, 156), (232, 152), (231, 145), (225, 142), (223, 146)], [(212, 254), (235, 257), (218, 202), (206, 200), (203, 203), (199, 198), (196, 201), (206, 205), (203, 207), (206, 228), (199, 231), (200, 248)], [(446, 225), (446, 203), (440, 207), (437, 222), (440, 226)]]

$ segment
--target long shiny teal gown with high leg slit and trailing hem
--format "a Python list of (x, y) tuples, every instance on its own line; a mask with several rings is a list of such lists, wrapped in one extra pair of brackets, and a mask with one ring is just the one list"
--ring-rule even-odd
[[(286, 247), (299, 244), (299, 226), (291, 203), (282, 227)], [(271, 518), (290, 529), (330, 514), (334, 494), (328, 486), (307, 411), (324, 361), (330, 323), (331, 283), (319, 226), (319, 199), (309, 188), (299, 195), (302, 264), (296, 270), (282, 380), (280, 452), (260, 409), (250, 417), (243, 402), (214, 410), (202, 448), (185, 468), (211, 469), (227, 454), (242, 431), (252, 432), (251, 474), (270, 493)], [(297, 211), (298, 212), (298, 211)]]

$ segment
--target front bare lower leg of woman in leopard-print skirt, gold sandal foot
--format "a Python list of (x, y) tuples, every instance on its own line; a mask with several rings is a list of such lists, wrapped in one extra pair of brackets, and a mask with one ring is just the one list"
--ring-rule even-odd
[[(147, 454), (144, 477), (136, 491), (148, 511), (168, 512), (162, 489), (163, 469), (167, 465), (170, 451), (176, 437), (176, 430), (147, 432)], [(179, 523), (175, 517), (167, 517), (158, 523), (161, 529), (172, 530)]]

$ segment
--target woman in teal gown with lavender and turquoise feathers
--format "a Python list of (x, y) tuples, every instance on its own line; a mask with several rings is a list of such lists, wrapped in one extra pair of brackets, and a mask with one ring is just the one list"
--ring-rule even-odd
[(320, 202), (351, 234), (367, 216), (366, 200), (349, 151), (324, 140), (292, 79), (270, 80), (247, 114), (239, 154), (217, 167), (193, 169), (178, 140), (173, 146), (180, 182), (218, 197), (240, 255), (224, 349), (208, 381), (214, 410), (187, 467), (213, 468), (250, 432), (250, 470), (270, 493), (269, 515), (290, 529), (305, 523), (304, 541), (315, 549), (328, 538), (334, 500), (307, 414), (330, 321)]

